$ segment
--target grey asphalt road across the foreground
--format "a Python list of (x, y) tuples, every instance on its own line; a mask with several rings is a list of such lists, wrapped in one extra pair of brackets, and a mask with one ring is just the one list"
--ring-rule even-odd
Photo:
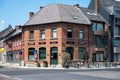
[[(17, 69), (0, 68), (0, 74), (19, 80), (120, 80), (120, 69)], [(17, 80), (16, 79), (16, 80)], [(0, 79), (5, 80), (5, 79)], [(12, 79), (6, 79), (12, 80)], [(14, 79), (13, 79), (14, 80)]]

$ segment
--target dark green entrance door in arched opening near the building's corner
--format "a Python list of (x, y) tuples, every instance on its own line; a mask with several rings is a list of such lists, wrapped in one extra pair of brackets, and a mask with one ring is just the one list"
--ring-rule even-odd
[(58, 64), (58, 49), (57, 49), (57, 47), (51, 48), (51, 64), (52, 65)]

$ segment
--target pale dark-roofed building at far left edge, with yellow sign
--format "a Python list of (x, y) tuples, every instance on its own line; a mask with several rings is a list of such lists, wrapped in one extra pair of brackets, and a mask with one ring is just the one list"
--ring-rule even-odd
[(9, 25), (6, 29), (0, 32), (0, 61), (2, 61), (2, 63), (5, 62), (5, 58), (4, 58), (5, 49), (4, 49), (3, 41), (8, 36), (8, 34), (12, 31), (13, 31), (13, 28), (11, 25)]

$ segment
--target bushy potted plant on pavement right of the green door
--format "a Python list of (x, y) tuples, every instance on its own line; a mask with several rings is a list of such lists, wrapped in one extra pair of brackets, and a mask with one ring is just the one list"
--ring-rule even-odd
[(69, 64), (67, 61), (70, 60), (70, 54), (67, 52), (62, 53), (62, 66), (65, 68), (69, 68)]

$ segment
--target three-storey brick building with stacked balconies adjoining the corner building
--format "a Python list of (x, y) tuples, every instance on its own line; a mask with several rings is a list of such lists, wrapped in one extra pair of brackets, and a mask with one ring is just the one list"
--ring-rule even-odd
[(94, 10), (80, 8), (92, 23), (90, 54), (92, 61), (110, 61), (110, 32), (104, 18)]

